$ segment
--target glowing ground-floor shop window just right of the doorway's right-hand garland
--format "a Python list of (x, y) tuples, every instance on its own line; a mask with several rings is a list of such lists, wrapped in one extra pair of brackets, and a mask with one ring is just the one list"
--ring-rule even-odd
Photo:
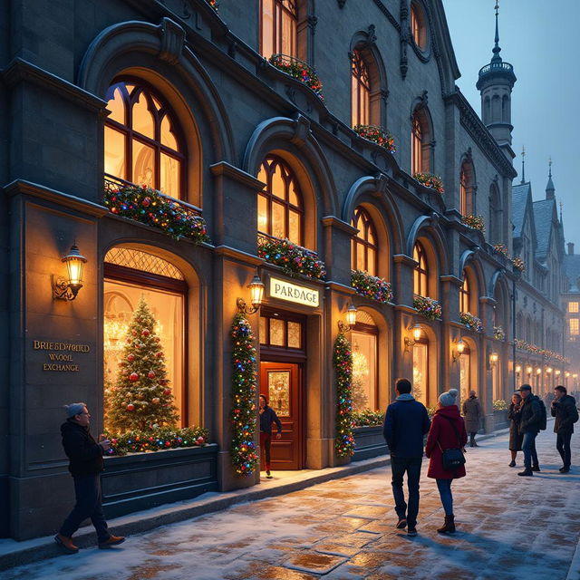
[(360, 412), (378, 409), (377, 339), (378, 329), (372, 316), (359, 310), (351, 332), (353, 349), (353, 409)]

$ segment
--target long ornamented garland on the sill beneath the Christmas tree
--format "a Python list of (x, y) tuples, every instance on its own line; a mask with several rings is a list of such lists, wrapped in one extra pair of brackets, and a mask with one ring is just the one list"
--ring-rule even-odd
[(122, 435), (105, 431), (105, 436), (111, 440), (111, 448), (107, 451), (108, 455), (126, 455), (127, 453), (147, 453), (160, 449), (206, 445), (208, 430), (202, 427), (160, 428), (153, 431), (132, 430)]

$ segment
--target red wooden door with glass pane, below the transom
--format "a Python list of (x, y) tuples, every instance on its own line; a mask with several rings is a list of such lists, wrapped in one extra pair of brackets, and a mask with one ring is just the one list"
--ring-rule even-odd
[(261, 362), (260, 394), (282, 423), (282, 439), (272, 429), (272, 469), (303, 469), (302, 368), (295, 362)]

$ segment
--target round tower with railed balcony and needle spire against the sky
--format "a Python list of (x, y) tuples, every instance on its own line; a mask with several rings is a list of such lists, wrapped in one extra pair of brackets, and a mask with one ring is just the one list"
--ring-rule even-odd
[(493, 47), (491, 62), (479, 71), (478, 91), (481, 93), (481, 119), (494, 139), (504, 150), (507, 159), (514, 159), (511, 150), (511, 91), (516, 82), (514, 67), (504, 63), (499, 56), (499, 5), (496, 0), (496, 44)]

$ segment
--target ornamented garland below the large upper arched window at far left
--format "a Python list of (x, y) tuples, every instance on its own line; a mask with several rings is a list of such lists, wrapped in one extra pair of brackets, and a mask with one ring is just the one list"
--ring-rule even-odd
[(204, 218), (147, 186), (105, 187), (104, 205), (111, 214), (158, 227), (170, 237), (187, 237), (196, 244), (208, 241)]

